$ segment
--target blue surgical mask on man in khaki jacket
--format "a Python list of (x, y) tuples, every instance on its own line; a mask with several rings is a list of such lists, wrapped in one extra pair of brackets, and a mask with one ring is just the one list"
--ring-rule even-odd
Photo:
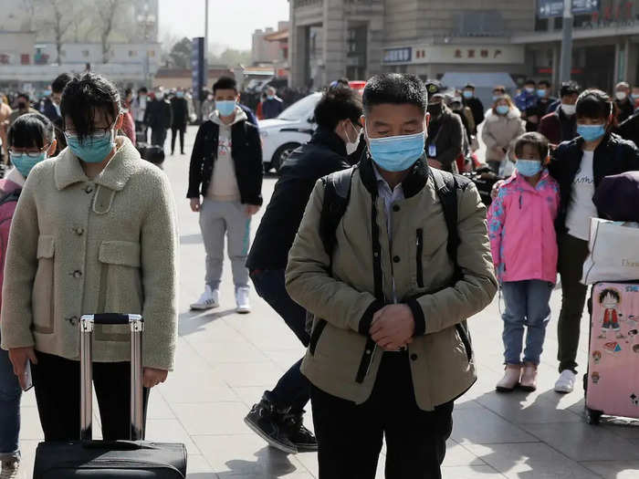
[(424, 131), (385, 138), (371, 138), (366, 131), (366, 137), (372, 161), (386, 172), (408, 170), (424, 154)]

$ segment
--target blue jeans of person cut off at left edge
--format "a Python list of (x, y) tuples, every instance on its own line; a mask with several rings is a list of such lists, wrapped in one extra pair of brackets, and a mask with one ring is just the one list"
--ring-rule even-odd
[(0, 460), (19, 456), (20, 397), (22, 390), (9, 360), (0, 349)]

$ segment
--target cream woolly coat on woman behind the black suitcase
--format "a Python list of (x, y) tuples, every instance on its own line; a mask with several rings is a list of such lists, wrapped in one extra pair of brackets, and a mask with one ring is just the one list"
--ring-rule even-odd
[[(79, 317), (139, 313), (143, 365), (172, 370), (177, 334), (178, 235), (166, 175), (131, 141), (89, 180), (66, 149), (29, 174), (11, 226), (2, 348), (79, 359)], [(93, 358), (131, 358), (130, 330), (97, 326)]]

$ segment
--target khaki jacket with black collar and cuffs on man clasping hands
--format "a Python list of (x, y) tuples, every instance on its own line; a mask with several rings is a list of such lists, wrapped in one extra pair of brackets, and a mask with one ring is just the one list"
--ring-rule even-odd
[[(361, 161), (352, 176), (351, 199), (337, 228), (330, 266), (319, 235), (324, 198), (319, 181), (288, 256), (287, 289), (316, 316), (302, 372), (319, 389), (360, 404), (371, 395), (382, 359), (382, 349), (366, 346), (372, 315), (392, 302), (394, 277), (399, 302), (411, 307), (415, 320), (415, 338), (408, 347), (415, 399), (422, 410), (432, 411), (477, 379), (460, 323), (490, 303), (497, 280), (486, 208), (472, 183), (457, 192), (457, 262), (463, 277), (454, 285), (445, 217), (424, 160), (404, 180), (403, 193), (405, 199), (393, 205), (391, 245), (372, 162)], [(376, 273), (383, 290), (377, 294)]]

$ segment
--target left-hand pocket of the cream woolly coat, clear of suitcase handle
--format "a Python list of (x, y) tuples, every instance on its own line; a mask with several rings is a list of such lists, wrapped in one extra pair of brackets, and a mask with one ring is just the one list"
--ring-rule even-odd
[(37, 238), (37, 272), (33, 283), (32, 305), (34, 331), (53, 334), (55, 316), (55, 239), (42, 234)]

